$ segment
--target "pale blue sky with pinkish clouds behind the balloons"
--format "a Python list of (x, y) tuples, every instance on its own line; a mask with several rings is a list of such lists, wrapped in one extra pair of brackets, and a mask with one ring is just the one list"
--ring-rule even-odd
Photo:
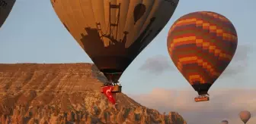
[[(237, 116), (240, 110), (256, 114), (255, 4), (254, 0), (181, 0), (162, 32), (123, 73), (123, 92), (146, 107), (175, 110), (189, 124), (220, 123), (222, 119), (236, 124), (241, 123)], [(196, 91), (174, 67), (166, 47), (168, 29), (174, 21), (194, 11), (222, 14), (232, 21), (238, 33), (235, 57), (210, 88), (211, 101), (203, 103), (194, 102)], [(0, 63), (92, 63), (62, 26), (50, 0), (17, 0), (0, 29), (0, 41)], [(154, 98), (158, 101), (152, 101)], [(203, 119), (198, 119), (200, 116)], [(248, 124), (255, 122), (252, 117)]]

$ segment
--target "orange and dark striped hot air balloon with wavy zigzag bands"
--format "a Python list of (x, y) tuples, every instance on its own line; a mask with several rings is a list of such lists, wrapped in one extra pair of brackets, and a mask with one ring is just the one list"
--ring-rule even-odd
[(229, 65), (237, 48), (235, 27), (210, 11), (180, 17), (168, 32), (171, 60), (198, 92), (195, 101), (209, 101), (208, 90)]

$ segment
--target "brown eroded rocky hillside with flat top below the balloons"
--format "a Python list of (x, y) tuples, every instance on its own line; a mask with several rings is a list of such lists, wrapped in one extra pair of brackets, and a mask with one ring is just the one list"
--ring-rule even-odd
[(101, 94), (106, 79), (93, 64), (0, 64), (1, 123), (185, 124), (119, 93), (117, 110)]

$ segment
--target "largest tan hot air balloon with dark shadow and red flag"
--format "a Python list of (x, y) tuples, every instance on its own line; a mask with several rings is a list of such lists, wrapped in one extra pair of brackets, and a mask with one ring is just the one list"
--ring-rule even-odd
[[(163, 29), (178, 0), (51, 0), (59, 19), (120, 92), (120, 76)], [(102, 91), (102, 89), (101, 89)]]

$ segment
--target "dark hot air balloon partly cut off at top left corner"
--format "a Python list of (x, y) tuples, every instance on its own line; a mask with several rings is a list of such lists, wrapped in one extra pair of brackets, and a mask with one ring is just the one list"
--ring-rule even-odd
[(5, 23), (16, 0), (0, 0), (0, 27)]

